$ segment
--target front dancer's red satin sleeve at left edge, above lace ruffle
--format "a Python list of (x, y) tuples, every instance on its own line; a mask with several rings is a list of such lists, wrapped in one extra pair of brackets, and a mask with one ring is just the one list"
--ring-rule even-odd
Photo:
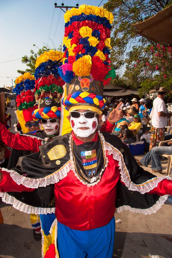
[(24, 185), (17, 185), (10, 177), (10, 174), (6, 171), (1, 171), (3, 174), (2, 180), (0, 181), (0, 192), (32, 192), (35, 189), (28, 188)]

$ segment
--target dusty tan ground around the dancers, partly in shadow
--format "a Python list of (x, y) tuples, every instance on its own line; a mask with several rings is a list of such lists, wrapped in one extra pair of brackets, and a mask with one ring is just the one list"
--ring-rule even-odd
[[(10, 109), (9, 112), (14, 121), (13, 111)], [(135, 156), (135, 158), (140, 159), (142, 156)], [(162, 166), (167, 167), (167, 161), (162, 161)], [(144, 169), (151, 171), (150, 165)], [(155, 175), (165, 176), (165, 170), (162, 174), (155, 173)], [(0, 202), (4, 218), (4, 223), (0, 225), (0, 258), (40, 258), (41, 241), (33, 239), (28, 214), (10, 207)], [(161, 258), (171, 258), (171, 214), (172, 198), (169, 198), (155, 214), (143, 215), (129, 211), (115, 214), (115, 219), (122, 221), (116, 223), (113, 257), (144, 258), (150, 253)]]

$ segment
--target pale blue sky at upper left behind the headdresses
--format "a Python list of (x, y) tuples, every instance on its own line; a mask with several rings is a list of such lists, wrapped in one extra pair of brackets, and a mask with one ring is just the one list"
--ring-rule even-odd
[[(78, 0), (64, 0), (64, 5), (75, 6), (77, 2)], [(94, 5), (99, 5), (100, 2), (101, 0), (94, 0)], [(106, 0), (101, 5), (105, 2)], [(11, 62), (5, 61), (18, 59), (24, 55), (29, 56), (31, 49), (36, 51), (33, 44), (42, 48), (44, 43), (47, 44), (48, 41), (48, 45), (52, 48), (50, 39), (53, 40), (53, 38), (56, 48), (61, 44), (64, 34), (64, 13), (62, 11), (60, 13), (58, 8), (54, 10), (54, 3), (55, 0), (0, 1), (0, 87), (3, 87), (4, 84), (5, 86), (11, 86), (12, 80), (7, 77), (13, 79), (19, 76), (18, 69), (26, 69), (26, 65), (21, 63), (21, 59)], [(61, 5), (62, 1), (57, 0), (56, 3)], [(79, 0), (79, 5), (83, 3), (91, 5), (93, 1)]]

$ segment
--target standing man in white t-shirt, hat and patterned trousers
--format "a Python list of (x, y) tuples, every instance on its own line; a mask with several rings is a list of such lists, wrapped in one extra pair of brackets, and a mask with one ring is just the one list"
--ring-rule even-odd
[(159, 145), (159, 142), (164, 140), (165, 126), (167, 126), (167, 117), (171, 116), (171, 113), (167, 112), (167, 107), (164, 102), (164, 98), (168, 90), (164, 87), (157, 89), (158, 97), (153, 101), (153, 109), (150, 113), (152, 122), (151, 137), (150, 137), (150, 149)]

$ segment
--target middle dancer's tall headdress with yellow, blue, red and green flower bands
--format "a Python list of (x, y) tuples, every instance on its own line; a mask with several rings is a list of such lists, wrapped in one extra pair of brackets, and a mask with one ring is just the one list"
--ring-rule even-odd
[(63, 55), (62, 52), (50, 50), (36, 59), (35, 98), (38, 109), (32, 114), (35, 121), (42, 118), (60, 118), (62, 85), (65, 82), (59, 76), (58, 68), (62, 65)]

